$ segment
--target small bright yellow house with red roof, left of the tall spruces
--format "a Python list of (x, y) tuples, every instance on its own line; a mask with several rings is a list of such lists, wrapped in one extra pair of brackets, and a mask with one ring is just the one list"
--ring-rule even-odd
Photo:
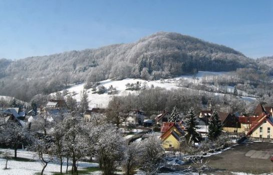
[(184, 135), (184, 127), (181, 123), (163, 122), (160, 128), (162, 146), (165, 149), (179, 149), (181, 137)]

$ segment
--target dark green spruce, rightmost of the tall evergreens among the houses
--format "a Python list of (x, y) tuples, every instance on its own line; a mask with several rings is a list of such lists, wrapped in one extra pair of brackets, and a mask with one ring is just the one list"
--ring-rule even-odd
[(213, 110), (211, 119), (208, 123), (208, 138), (215, 140), (222, 132), (222, 123), (219, 119), (217, 110)]

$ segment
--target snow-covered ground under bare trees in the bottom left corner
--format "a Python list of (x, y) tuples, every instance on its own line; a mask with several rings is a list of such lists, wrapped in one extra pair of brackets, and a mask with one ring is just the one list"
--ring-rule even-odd
[[(11, 155), (14, 155), (13, 149), (0, 149), (0, 151), (11, 151)], [(8, 168), (9, 169), (3, 169), (6, 164), (6, 160), (3, 158), (0, 158), (0, 174), (9, 174), (9, 175), (30, 175), (35, 174), (37, 172), (41, 172), (43, 168), (43, 164), (41, 160), (38, 158), (38, 156), (31, 151), (26, 150), (18, 150), (17, 151), (18, 157), (23, 158), (29, 158), (33, 161), (17, 161), (17, 160), (9, 160), (8, 161)], [(69, 162), (69, 169), (71, 169), (72, 162)], [(66, 162), (63, 164), (63, 170), (66, 169)], [(89, 163), (89, 162), (82, 162), (80, 161), (78, 164), (79, 169), (86, 168), (86, 167), (97, 167), (99, 166), (98, 163)], [(45, 174), (49, 175), (52, 174), (52, 172), (59, 172), (60, 171), (60, 165), (58, 164), (58, 161), (50, 162), (48, 166), (45, 169)]]

